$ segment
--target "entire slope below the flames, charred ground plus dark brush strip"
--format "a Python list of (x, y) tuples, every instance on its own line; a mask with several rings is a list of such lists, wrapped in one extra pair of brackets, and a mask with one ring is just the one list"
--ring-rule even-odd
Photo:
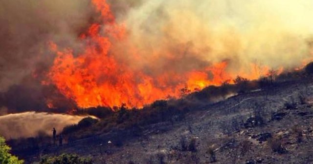
[(141, 110), (121, 106), (116, 112), (105, 107), (79, 111), (101, 120), (66, 127), (63, 147), (51, 145), (47, 137), (9, 143), (26, 163), (66, 152), (91, 156), (96, 164), (310, 164), (309, 72), (254, 82), (239, 78), (236, 84), (210, 86)]

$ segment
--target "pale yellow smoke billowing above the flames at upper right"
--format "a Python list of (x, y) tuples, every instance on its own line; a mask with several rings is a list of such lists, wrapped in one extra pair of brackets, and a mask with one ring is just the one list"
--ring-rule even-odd
[[(121, 6), (117, 1), (112, 3)], [(145, 0), (141, 3), (124, 4), (127, 7), (123, 11), (128, 13), (117, 13), (117, 20), (126, 23), (128, 40), (136, 45), (141, 59), (135, 61), (136, 66), (149, 73), (161, 74), (164, 70), (181, 73), (227, 61), (227, 72), (231, 75), (258, 78), (262, 72), (254, 75), (251, 64), (261, 70), (264, 66), (290, 69), (312, 60), (308, 44), (313, 33), (312, 1)]]

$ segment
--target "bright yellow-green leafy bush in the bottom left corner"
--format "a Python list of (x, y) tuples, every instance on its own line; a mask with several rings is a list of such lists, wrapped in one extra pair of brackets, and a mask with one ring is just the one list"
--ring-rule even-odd
[(0, 164), (23, 164), (23, 160), (19, 160), (16, 156), (9, 153), (11, 148), (5, 144), (3, 137), (0, 137)]

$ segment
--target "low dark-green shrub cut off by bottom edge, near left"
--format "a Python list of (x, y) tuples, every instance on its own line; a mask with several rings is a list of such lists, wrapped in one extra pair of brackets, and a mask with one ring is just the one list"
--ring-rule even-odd
[(94, 164), (89, 158), (82, 158), (76, 154), (62, 154), (60, 156), (44, 156), (39, 164)]

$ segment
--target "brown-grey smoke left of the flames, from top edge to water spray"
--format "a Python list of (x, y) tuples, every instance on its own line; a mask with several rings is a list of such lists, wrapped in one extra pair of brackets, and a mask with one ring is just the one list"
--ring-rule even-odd
[(0, 0), (0, 115), (45, 110), (50, 95), (62, 100), (41, 85), (55, 57), (48, 41), (77, 45), (94, 18), (90, 0)]

